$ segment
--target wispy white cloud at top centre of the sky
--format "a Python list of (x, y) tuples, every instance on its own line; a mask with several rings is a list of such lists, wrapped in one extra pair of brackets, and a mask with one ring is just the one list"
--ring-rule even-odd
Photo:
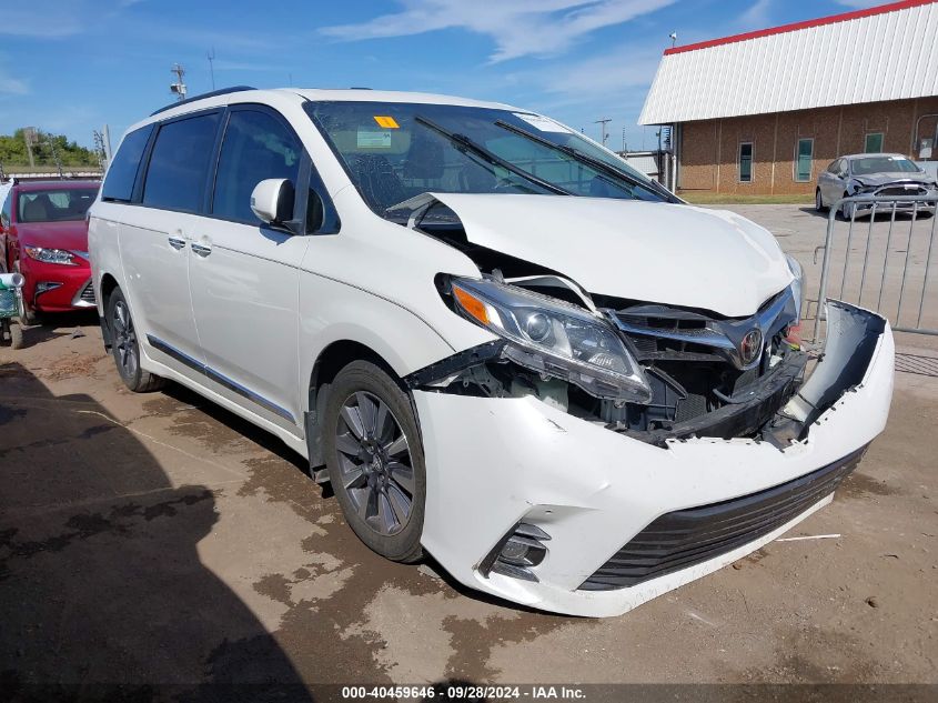
[(501, 0), (484, 9), (464, 0), (401, 0), (401, 12), (359, 24), (321, 30), (342, 41), (410, 37), (442, 29), (465, 29), (495, 42), (490, 59), (563, 53), (575, 41), (602, 29), (628, 22), (676, 0)]

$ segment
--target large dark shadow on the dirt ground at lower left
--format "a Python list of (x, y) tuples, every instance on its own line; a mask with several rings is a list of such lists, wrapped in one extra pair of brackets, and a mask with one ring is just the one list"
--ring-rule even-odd
[(0, 697), (107, 697), (104, 685), (152, 682), (183, 699), (222, 684), (239, 686), (229, 700), (266, 697), (244, 684), (276, 684), (311, 700), (200, 561), (213, 493), (171, 485), (91, 398), (57, 398), (21, 365), (0, 368)]

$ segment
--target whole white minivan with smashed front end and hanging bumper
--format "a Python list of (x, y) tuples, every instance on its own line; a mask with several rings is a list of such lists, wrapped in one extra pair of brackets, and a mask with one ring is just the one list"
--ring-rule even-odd
[(623, 613), (830, 501), (892, 338), (765, 229), (563, 124), (370, 90), (218, 91), (134, 124), (91, 209), (104, 341), (273, 432), (387, 559)]

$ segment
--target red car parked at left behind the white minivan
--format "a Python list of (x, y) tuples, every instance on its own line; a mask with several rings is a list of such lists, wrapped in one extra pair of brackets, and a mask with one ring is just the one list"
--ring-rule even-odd
[(0, 244), (8, 271), (26, 278), (27, 317), (93, 308), (88, 222), (97, 181), (17, 183), (0, 208)]

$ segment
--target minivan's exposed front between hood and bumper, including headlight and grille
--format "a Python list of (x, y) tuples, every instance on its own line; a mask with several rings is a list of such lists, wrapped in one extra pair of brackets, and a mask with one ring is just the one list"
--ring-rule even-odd
[(531, 395), (657, 446), (693, 436), (778, 446), (804, 439), (819, 410), (859, 382), (885, 324), (861, 311), (863, 319), (854, 320), (847, 307), (831, 302), (833, 344), (849, 344), (853, 352), (837, 373), (818, 364), (825, 391), (806, 395), (799, 393), (806, 370), (825, 355), (811, 354), (797, 339), (797, 287), (744, 319), (593, 297), (548, 274), (441, 277), (438, 288), (455, 312), (501, 339), (411, 374), (412, 389)]

